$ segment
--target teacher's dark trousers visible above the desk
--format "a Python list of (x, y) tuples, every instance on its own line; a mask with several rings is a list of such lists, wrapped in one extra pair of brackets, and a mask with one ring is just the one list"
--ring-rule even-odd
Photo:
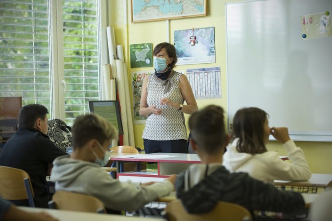
[(188, 153), (187, 140), (152, 141), (143, 139), (144, 151), (151, 153)]

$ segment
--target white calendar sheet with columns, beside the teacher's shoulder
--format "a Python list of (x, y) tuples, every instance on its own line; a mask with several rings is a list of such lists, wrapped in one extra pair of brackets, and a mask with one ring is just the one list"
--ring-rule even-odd
[(196, 99), (220, 98), (220, 67), (187, 69), (187, 78)]

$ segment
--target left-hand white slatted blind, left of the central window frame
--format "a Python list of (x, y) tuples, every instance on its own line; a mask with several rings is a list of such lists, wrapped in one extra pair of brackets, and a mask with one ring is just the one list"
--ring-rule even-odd
[(52, 113), (47, 0), (0, 1), (0, 96)]

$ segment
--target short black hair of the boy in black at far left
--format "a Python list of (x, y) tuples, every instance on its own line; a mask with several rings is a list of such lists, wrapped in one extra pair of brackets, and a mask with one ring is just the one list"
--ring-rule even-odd
[(19, 127), (34, 128), (37, 119), (44, 121), (47, 114), (48, 109), (41, 104), (24, 105), (19, 112)]

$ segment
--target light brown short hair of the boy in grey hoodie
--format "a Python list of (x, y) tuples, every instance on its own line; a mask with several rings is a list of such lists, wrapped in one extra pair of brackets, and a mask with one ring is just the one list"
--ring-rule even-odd
[(104, 118), (95, 115), (82, 115), (76, 118), (72, 126), (72, 147), (81, 148), (92, 139), (103, 144), (106, 140), (118, 138), (118, 132)]

